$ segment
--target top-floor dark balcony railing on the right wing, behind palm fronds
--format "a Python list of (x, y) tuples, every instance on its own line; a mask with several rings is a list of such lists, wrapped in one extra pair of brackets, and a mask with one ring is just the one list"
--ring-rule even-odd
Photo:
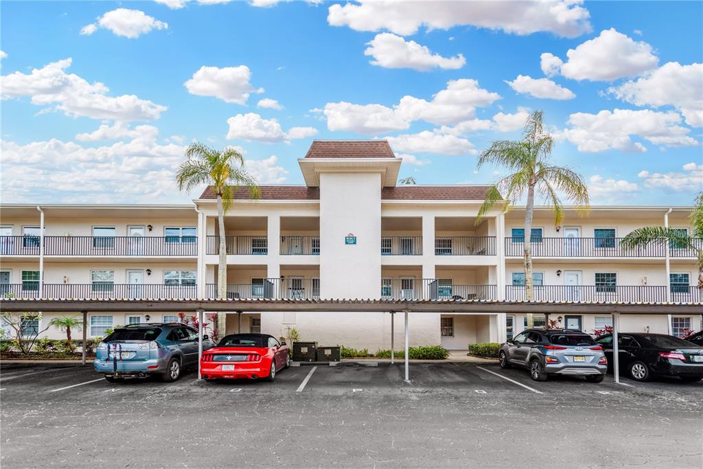
[[(532, 238), (532, 257), (665, 257), (664, 243), (650, 243), (638, 248), (621, 246), (623, 238)], [(703, 248), (703, 239), (694, 244)], [(522, 257), (524, 238), (505, 238), (505, 257)], [(696, 257), (694, 249), (669, 248), (671, 257)]]

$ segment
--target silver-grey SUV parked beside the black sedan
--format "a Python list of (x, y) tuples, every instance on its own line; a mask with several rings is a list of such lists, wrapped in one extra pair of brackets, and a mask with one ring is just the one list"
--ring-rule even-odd
[(524, 330), (501, 345), (498, 359), (502, 368), (528, 368), (535, 381), (546, 381), (549, 375), (576, 375), (600, 383), (607, 371), (602, 347), (580, 330)]

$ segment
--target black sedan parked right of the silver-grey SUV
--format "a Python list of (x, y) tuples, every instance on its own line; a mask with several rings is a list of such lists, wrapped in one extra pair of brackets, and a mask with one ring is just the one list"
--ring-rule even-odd
[[(613, 336), (595, 339), (602, 345), (608, 361), (613, 362)], [(652, 376), (678, 376), (688, 383), (703, 379), (703, 347), (666, 334), (618, 333), (620, 373), (633, 380), (647, 381)]]

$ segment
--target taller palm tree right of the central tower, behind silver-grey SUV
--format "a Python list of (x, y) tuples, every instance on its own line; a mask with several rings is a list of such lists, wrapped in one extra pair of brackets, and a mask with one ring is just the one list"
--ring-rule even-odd
[[(486, 193), (476, 224), (479, 224), (486, 212), (497, 203), (502, 201), (503, 212), (506, 212), (511, 203), (515, 204), (521, 200), (527, 192), (524, 221), (524, 286), (525, 298), (528, 301), (534, 299), (531, 239), (535, 193), (541, 194), (546, 203), (553, 207), (555, 226), (561, 224), (564, 219), (560, 194), (576, 205), (580, 212), (587, 212), (589, 208), (588, 188), (583, 177), (572, 169), (551, 165), (549, 157), (552, 147), (552, 136), (543, 129), (542, 111), (535, 111), (525, 123), (521, 141), (494, 141), (491, 148), (481, 153), (477, 162), (479, 169), (484, 165), (502, 165), (510, 170), (510, 174), (499, 179)], [(531, 314), (527, 315), (527, 325), (533, 325)]]

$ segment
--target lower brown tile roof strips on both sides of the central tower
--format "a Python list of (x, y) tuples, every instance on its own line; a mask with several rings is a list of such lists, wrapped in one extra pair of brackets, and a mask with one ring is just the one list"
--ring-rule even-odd
[[(306, 186), (260, 186), (260, 200), (320, 200), (320, 190)], [(382, 200), (483, 200), (491, 186), (399, 186), (384, 187)], [(214, 199), (209, 186), (200, 195), (201, 199)], [(234, 195), (236, 200), (249, 198), (249, 191), (240, 188)]]

